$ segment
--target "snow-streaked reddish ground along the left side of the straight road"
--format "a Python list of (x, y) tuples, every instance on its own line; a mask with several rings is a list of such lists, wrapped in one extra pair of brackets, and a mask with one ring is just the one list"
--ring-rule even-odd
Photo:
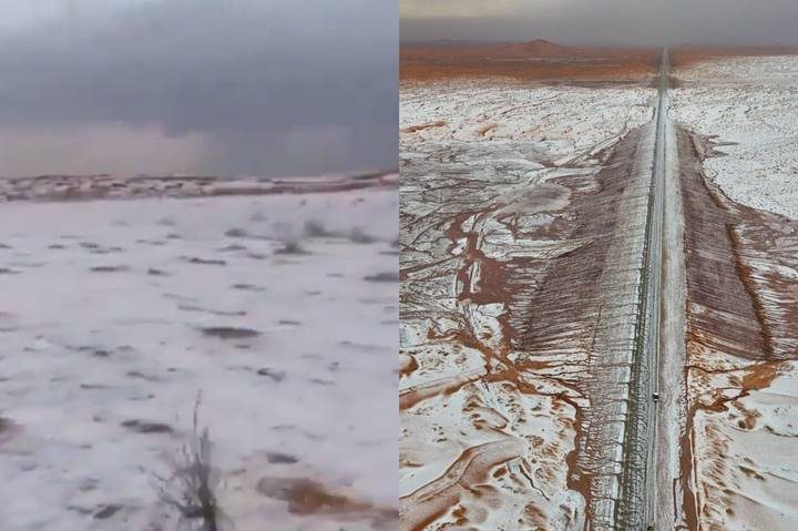
[[(579, 326), (541, 315), (543, 295), (531, 299), (557, 259), (590, 247), (570, 205), (596, 191), (604, 149), (651, 120), (654, 95), (637, 85), (402, 86), (403, 530), (584, 524), (587, 481), (570, 470), (584, 456), (574, 445), (592, 347)], [(529, 331), (543, 320), (540, 335)]]

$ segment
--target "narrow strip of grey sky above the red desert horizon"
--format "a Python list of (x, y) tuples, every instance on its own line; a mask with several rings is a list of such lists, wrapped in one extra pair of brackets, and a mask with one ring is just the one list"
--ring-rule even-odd
[(403, 40), (798, 44), (798, 0), (400, 0)]

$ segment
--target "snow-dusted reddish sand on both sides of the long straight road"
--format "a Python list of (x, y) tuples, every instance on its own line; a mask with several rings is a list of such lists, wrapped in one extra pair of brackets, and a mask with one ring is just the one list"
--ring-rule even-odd
[[(676, 73), (683, 84), (673, 91), (673, 116), (714, 135), (714, 147), (728, 153), (705, 160), (704, 167), (732, 200), (796, 217), (790, 157), (798, 61), (725, 61)], [(590, 238), (569, 233), (574, 224), (590, 225), (570, 205), (595, 190), (592, 177), (607, 162), (603, 149), (626, 147), (631, 136), (618, 139), (651, 119), (653, 95), (643, 86), (402, 88), (403, 529), (569, 530), (585, 520), (610, 529), (595, 517), (613, 512), (611, 476), (623, 457), (606, 457), (615, 449), (622, 456), (622, 447), (603, 436), (625, 411), (595, 402), (602, 396), (625, 401), (623, 387), (606, 385), (624, 366), (595, 370), (596, 359), (606, 362), (612, 350), (596, 343), (601, 335), (581, 340), (580, 331), (600, 327), (571, 303), (591, 266), (603, 268), (605, 283), (620, 277), (607, 276), (605, 263), (584, 259), (587, 253), (583, 262), (557, 258), (589, 246)], [(659, 466), (673, 477), (657, 496), (669, 497), (674, 508), (661, 519), (674, 528), (792, 529), (798, 227), (712, 195), (714, 186), (699, 173), (704, 140), (690, 150), (687, 135), (678, 137), (686, 164), (678, 173), (681, 198), (694, 200), (684, 237), (669, 234), (672, 244), (690, 252), (687, 304), (676, 303), (686, 307), (687, 359), (666, 360), (667, 384), (675, 387), (663, 392), (659, 407), (672, 408), (671, 415), (684, 410), (686, 423), (679, 412), (676, 422), (661, 425), (671, 446)], [(676, 178), (678, 169), (672, 170)], [(690, 182), (696, 187), (686, 187)], [(675, 198), (676, 191), (671, 194)], [(597, 214), (601, 222), (611, 218)], [(627, 217), (631, 225), (642, 219)], [(612, 235), (613, 242), (624, 236)], [(607, 238), (597, 241), (608, 247)], [(624, 245), (607, 254), (632, 273), (641, 255)], [(557, 269), (576, 282), (550, 283), (551, 299), (534, 298)], [(632, 273), (607, 284), (633, 286)], [(585, 296), (585, 305), (595, 295)], [(607, 299), (603, 315), (617, 306), (612, 294)], [(570, 320), (560, 326), (563, 313)], [(618, 310), (615, 318), (626, 325), (633, 316)], [(674, 337), (682, 333), (681, 320), (666, 326)], [(552, 329), (559, 335), (548, 338)], [(685, 385), (678, 382), (683, 374)], [(582, 431), (589, 448), (576, 446)], [(593, 487), (590, 500), (583, 494)]]

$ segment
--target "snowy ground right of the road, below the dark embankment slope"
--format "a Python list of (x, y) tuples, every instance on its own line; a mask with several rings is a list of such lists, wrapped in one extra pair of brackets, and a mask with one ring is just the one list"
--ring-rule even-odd
[[(707, 529), (747, 531), (798, 527), (797, 364), (785, 362), (780, 376), (761, 390), (740, 392), (740, 379), (756, 378), (757, 366), (719, 359), (732, 376), (690, 380), (690, 391), (705, 404), (729, 397), (723, 410), (696, 411), (695, 481), (699, 522)], [(699, 360), (703, 365), (709, 365)]]

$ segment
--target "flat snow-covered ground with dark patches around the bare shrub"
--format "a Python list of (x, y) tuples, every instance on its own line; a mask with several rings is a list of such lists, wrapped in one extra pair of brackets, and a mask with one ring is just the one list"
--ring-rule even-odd
[(236, 530), (395, 529), (397, 208), (0, 205), (0, 529), (172, 529), (153, 474), (197, 391)]

